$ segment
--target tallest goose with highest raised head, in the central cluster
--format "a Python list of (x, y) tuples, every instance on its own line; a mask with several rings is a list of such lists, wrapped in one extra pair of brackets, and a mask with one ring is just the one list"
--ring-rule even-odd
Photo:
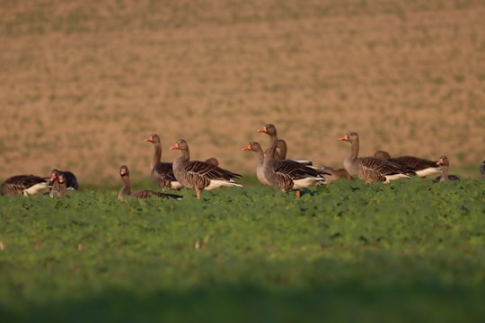
[(269, 148), (264, 155), (263, 172), (269, 184), (281, 191), (295, 189), (296, 196), (300, 196), (301, 188), (325, 183), (325, 178), (318, 171), (302, 163), (291, 160), (276, 160), (275, 152), (278, 145), (276, 127), (267, 124), (258, 132), (269, 135)]

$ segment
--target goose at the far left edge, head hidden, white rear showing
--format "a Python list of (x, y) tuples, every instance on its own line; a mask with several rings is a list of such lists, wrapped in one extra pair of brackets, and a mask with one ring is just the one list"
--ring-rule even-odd
[(48, 182), (36, 175), (15, 175), (2, 184), (2, 195), (30, 196), (48, 190)]

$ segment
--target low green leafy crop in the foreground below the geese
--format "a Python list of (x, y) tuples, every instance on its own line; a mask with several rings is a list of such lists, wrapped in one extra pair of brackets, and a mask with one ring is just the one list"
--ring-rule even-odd
[(485, 180), (0, 196), (2, 321), (481, 321)]

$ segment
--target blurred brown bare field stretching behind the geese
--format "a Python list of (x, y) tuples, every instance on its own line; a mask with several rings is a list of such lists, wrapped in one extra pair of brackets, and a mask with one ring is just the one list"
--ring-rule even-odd
[(253, 174), (242, 152), (274, 123), (289, 157), (437, 159), (479, 178), (485, 4), (410, 1), (2, 1), (0, 179), (74, 171), (81, 185), (149, 177), (183, 137), (192, 159)]

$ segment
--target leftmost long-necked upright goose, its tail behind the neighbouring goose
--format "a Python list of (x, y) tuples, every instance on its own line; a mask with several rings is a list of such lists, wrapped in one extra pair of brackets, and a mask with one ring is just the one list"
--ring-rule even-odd
[(183, 186), (173, 175), (172, 162), (162, 162), (162, 144), (160, 136), (150, 135), (145, 142), (154, 144), (154, 156), (150, 162), (150, 170), (154, 183), (161, 189), (181, 189)]

